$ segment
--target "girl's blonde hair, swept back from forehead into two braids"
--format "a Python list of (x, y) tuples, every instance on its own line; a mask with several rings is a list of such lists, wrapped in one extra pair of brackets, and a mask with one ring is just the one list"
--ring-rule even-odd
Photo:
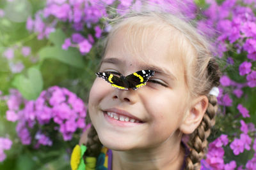
[[(184, 76), (191, 97), (205, 95), (209, 99), (209, 105), (204, 118), (190, 135), (188, 141), (190, 153), (186, 158), (186, 169), (200, 169), (200, 160), (204, 157), (207, 150), (207, 138), (210, 135), (212, 125), (214, 125), (214, 115), (218, 108), (216, 97), (209, 95), (212, 87), (218, 87), (220, 80), (220, 71), (218, 64), (214, 57), (212, 57), (210, 43), (202, 34), (198, 33), (188, 20), (161, 10), (144, 9), (138, 12), (132, 11), (114, 21), (115, 25), (112, 27), (111, 32), (109, 32), (106, 46), (108, 46), (109, 39), (122, 29), (124, 25), (132, 30), (133, 38), (136, 38), (136, 31), (137, 34), (145, 34), (143, 32), (145, 29), (140, 32), (141, 27), (152, 27), (156, 33), (164, 30), (164, 34), (170, 32), (166, 36), (172, 38), (175, 36), (179, 37), (175, 39), (177, 40), (175, 42), (179, 43), (179, 52), (182, 52), (184, 57), (182, 58)], [(141, 43), (142, 45), (147, 45), (147, 41), (141, 41)], [(127, 48), (137, 50), (139, 47), (131, 43)], [(86, 155), (93, 153), (93, 156), (95, 156), (94, 153), (96, 155), (99, 154), (100, 142), (99, 138), (97, 138), (97, 132), (93, 127), (88, 135), (87, 146), (88, 153)]]

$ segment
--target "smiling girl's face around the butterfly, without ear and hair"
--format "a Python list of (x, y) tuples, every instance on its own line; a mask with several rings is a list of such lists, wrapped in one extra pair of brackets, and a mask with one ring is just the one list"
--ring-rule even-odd
[[(131, 43), (127, 37), (132, 32), (125, 30), (120, 29), (109, 39), (100, 72), (114, 71), (127, 76), (142, 69), (152, 69), (156, 73), (147, 85), (137, 90), (116, 89), (102, 78), (96, 78), (89, 98), (92, 124), (102, 144), (113, 150), (177, 143), (179, 127), (188, 111), (189, 93), (177, 43), (164, 34), (156, 38), (152, 32), (147, 38), (154, 41), (147, 45), (141, 45), (141, 36)], [(137, 50), (129, 48), (132, 45), (137, 46)]]

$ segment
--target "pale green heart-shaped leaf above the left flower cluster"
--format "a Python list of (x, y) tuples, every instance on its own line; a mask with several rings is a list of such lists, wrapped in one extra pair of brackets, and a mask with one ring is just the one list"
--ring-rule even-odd
[(19, 90), (25, 99), (35, 100), (43, 89), (42, 75), (37, 68), (31, 67), (28, 69), (27, 77), (23, 74), (15, 76), (12, 85)]

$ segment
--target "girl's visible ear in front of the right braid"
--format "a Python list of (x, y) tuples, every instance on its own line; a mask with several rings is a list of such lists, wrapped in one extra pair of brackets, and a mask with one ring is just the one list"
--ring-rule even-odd
[(193, 100), (189, 110), (185, 113), (180, 131), (184, 134), (191, 134), (202, 121), (208, 107), (207, 96), (200, 96)]

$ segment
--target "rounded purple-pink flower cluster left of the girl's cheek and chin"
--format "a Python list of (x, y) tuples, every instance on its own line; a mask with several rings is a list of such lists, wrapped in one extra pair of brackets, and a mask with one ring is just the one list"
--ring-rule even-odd
[[(74, 132), (86, 127), (83, 101), (65, 88), (55, 86), (44, 90), (36, 101), (26, 101), (17, 90), (12, 90), (7, 104), (6, 118), (17, 121), (16, 131), (23, 145), (34, 140), (35, 148), (51, 146), (52, 138), (56, 138), (51, 131), (60, 132), (64, 141), (68, 141)], [(35, 136), (31, 136), (32, 131), (36, 131)]]

